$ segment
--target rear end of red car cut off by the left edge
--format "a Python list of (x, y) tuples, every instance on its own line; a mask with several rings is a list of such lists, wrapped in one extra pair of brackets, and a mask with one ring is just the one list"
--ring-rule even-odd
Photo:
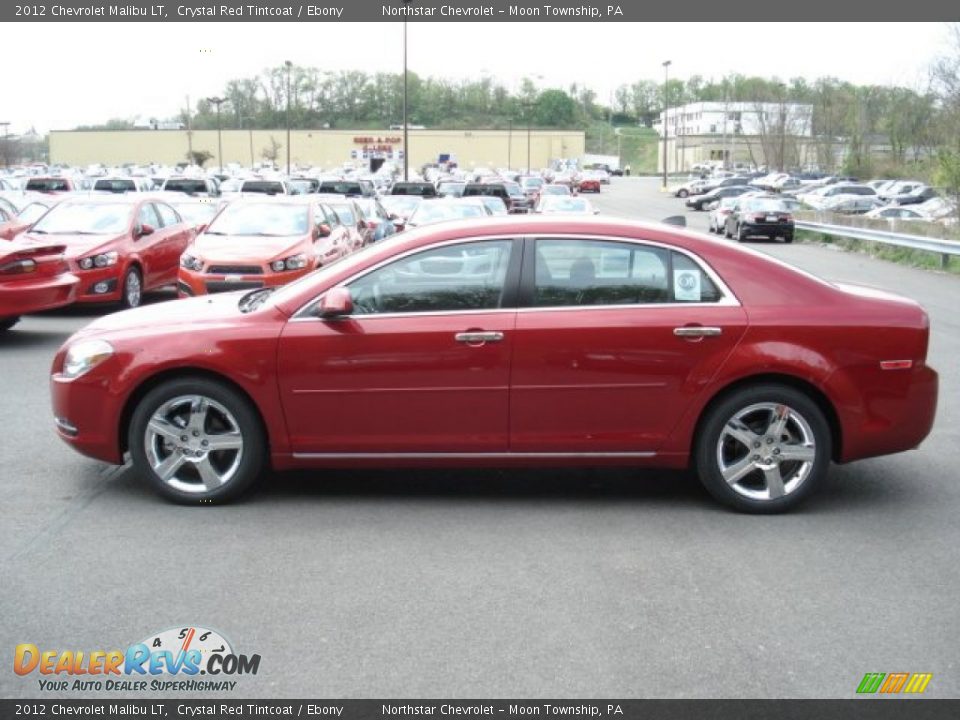
[(80, 280), (70, 273), (65, 249), (23, 239), (0, 245), (0, 332), (21, 315), (73, 302)]

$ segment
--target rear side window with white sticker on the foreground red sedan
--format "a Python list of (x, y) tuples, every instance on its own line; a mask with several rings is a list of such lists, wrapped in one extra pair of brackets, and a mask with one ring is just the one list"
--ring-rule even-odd
[(536, 307), (716, 302), (713, 281), (686, 255), (606, 240), (537, 240)]

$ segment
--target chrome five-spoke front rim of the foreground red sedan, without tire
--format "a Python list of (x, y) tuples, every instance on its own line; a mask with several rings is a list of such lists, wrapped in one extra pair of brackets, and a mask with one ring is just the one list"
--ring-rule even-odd
[(226, 485), (243, 458), (236, 418), (202, 395), (181, 395), (161, 405), (147, 423), (143, 440), (153, 472), (184, 493)]

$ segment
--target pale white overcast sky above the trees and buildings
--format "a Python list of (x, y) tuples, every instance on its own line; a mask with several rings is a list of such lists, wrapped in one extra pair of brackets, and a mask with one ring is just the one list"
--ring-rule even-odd
[[(10, 28), (13, 30), (13, 28)], [(762, 38), (753, 45), (736, 37)], [(5, 34), (0, 121), (19, 134), (173, 117), (190, 96), (285, 60), (321, 70), (402, 70), (394, 23), (26, 23)], [(437, 23), (408, 25), (408, 64), (421, 76), (481, 74), (518, 88), (617, 86), (728, 73), (822, 76), (921, 89), (947, 49), (943, 23)], [(19, 59), (24, 63), (17, 69)]]

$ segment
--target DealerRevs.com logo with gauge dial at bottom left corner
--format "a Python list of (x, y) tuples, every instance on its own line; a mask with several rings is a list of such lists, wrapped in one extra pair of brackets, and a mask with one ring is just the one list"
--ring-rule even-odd
[[(240, 655), (216, 630), (170, 628), (126, 650), (51, 650), (21, 643), (13, 670), (39, 675), (42, 691), (230, 691), (238, 675), (256, 675), (259, 655)], [(203, 676), (203, 677), (201, 677)]]

